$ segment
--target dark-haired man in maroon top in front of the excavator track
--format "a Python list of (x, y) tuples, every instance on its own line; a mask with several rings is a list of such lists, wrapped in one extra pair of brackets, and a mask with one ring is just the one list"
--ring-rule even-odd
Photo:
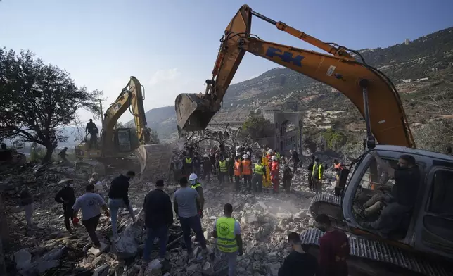
[(317, 227), (326, 232), (319, 239), (319, 272), (322, 276), (347, 276), (346, 259), (350, 254), (349, 239), (345, 232), (336, 230), (326, 214), (315, 219)]

